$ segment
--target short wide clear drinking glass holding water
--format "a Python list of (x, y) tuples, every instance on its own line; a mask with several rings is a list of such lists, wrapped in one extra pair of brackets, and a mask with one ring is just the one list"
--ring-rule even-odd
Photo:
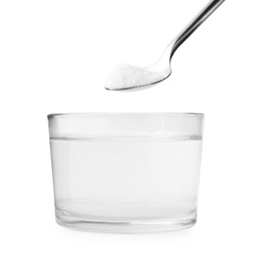
[(56, 222), (151, 232), (196, 223), (204, 115), (48, 115)]

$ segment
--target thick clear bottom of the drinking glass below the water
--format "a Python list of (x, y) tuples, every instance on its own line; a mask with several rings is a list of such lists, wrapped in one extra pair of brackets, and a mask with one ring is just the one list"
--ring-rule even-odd
[(125, 220), (113, 221), (92, 216), (76, 215), (56, 209), (56, 223), (84, 231), (113, 233), (149, 233), (181, 230), (196, 224), (196, 214), (175, 220)]

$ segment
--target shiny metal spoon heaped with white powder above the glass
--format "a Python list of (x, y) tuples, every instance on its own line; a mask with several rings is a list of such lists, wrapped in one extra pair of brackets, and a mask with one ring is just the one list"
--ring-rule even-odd
[(109, 80), (105, 89), (110, 91), (138, 91), (148, 89), (165, 80), (171, 74), (170, 61), (176, 49), (224, 2), (212, 0), (165, 48), (155, 64), (141, 68), (128, 64), (117, 66), (114, 78)]

